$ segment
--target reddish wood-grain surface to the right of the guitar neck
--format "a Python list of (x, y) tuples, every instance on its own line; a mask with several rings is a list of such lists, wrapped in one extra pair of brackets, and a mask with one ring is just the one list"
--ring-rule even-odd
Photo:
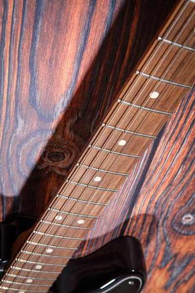
[(119, 235), (142, 243), (144, 293), (194, 292), (195, 86), (145, 152), (74, 254), (96, 251)]

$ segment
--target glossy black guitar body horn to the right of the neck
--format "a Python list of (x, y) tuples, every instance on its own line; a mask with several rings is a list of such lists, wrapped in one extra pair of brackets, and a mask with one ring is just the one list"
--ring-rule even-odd
[(49, 293), (138, 293), (145, 282), (141, 244), (125, 236), (90, 255), (70, 260)]

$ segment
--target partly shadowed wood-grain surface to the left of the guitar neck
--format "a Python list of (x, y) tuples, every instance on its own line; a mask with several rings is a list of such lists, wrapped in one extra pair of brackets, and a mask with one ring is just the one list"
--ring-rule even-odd
[(39, 217), (175, 0), (0, 0), (0, 220)]

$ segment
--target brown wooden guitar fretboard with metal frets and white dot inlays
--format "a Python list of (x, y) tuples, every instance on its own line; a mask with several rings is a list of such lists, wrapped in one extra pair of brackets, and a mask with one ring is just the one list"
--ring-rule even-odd
[(0, 292), (47, 292), (195, 77), (195, 3), (181, 1), (3, 276)]

